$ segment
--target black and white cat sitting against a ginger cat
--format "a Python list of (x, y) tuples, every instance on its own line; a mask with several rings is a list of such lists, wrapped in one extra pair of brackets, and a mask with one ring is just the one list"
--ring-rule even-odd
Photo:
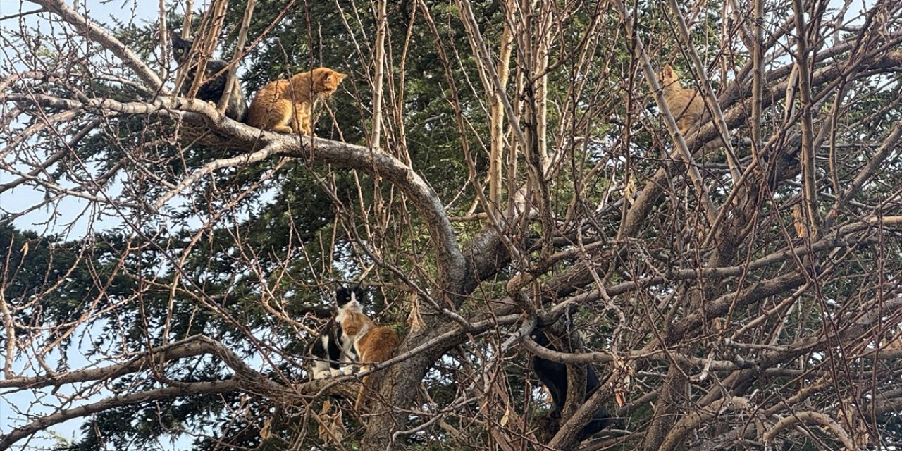
[[(360, 332), (360, 327), (349, 318), (362, 311), (363, 300), (364, 290), (359, 286), (336, 290), (336, 317), (328, 322), (326, 329), (310, 346), (310, 354), (314, 357), (312, 379), (350, 373), (351, 367), (346, 364), (358, 360), (354, 338)], [(347, 328), (343, 323), (347, 324)], [(345, 366), (344, 371), (342, 366)]]

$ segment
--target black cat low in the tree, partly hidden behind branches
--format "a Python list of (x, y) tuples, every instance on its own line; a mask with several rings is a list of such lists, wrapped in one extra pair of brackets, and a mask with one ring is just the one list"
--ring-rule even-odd
[[(548, 340), (548, 336), (545, 336), (545, 332), (538, 327), (532, 331), (532, 340), (540, 346), (546, 347), (552, 351), (557, 351), (555, 345), (552, 345), (551, 341)], [(548, 391), (551, 392), (551, 400), (554, 403), (554, 409), (551, 410), (549, 417), (552, 420), (552, 427), (554, 428), (553, 433), (557, 433), (557, 428), (559, 428), (557, 423), (560, 421), (561, 410), (564, 409), (564, 403), (566, 402), (566, 364), (552, 362), (543, 359), (538, 355), (533, 355), (531, 361), (532, 371), (536, 373), (538, 380), (548, 387)], [(602, 383), (599, 381), (598, 373), (595, 372), (594, 367), (591, 364), (585, 364), (584, 400), (588, 400), (589, 396), (591, 396), (594, 391), (598, 390), (598, 387), (601, 385)], [(595, 415), (585, 425), (577, 439), (583, 440), (594, 436), (598, 431), (608, 425), (608, 420), (610, 418), (611, 416), (608, 414), (608, 410), (602, 407), (595, 412)]]

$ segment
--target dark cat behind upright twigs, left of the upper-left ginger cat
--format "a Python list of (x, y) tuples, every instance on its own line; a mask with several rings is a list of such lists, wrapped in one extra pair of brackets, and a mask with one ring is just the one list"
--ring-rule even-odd
[[(172, 33), (172, 56), (175, 57), (179, 66), (189, 62), (189, 52), (194, 39), (182, 39), (177, 33)], [(226, 69), (228, 63), (224, 60), (207, 60), (207, 68), (204, 70), (204, 78), (210, 78), (219, 71)], [(195, 67), (191, 67), (188, 71), (188, 77), (182, 85), (181, 95), (188, 93), (192, 84), (194, 84)], [(207, 102), (218, 103), (226, 90), (226, 79), (228, 71), (223, 71), (218, 77), (210, 79), (198, 88), (197, 98)], [(234, 119), (238, 122), (244, 122), (247, 119), (247, 102), (244, 100), (244, 93), (238, 85), (238, 80), (232, 85), (232, 95), (228, 98), (228, 106), (226, 106), (226, 117)]]

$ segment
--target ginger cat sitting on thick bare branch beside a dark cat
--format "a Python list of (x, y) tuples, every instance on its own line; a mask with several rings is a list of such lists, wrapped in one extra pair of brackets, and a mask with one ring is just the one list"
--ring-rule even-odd
[(273, 132), (313, 135), (310, 116), (314, 104), (335, 93), (345, 77), (332, 69), (317, 68), (271, 81), (253, 97), (247, 124)]

